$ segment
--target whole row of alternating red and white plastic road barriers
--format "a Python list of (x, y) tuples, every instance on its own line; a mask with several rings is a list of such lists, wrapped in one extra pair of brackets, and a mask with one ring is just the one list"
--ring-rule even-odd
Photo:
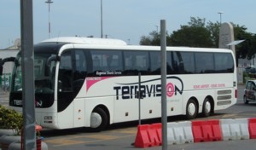
[[(135, 147), (162, 144), (161, 124), (138, 126)], [(256, 139), (256, 118), (183, 121), (167, 124), (168, 144)]]

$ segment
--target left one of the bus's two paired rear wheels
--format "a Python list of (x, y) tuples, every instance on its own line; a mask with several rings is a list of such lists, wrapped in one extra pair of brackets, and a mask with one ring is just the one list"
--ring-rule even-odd
[(193, 99), (189, 99), (186, 107), (186, 118), (193, 119), (196, 118), (198, 113), (198, 106)]

